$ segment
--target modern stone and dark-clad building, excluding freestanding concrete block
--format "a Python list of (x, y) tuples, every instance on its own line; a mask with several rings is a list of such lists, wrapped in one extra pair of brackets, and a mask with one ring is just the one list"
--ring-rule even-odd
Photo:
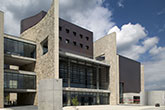
[(91, 31), (58, 15), (53, 0), (47, 13), (22, 20), (16, 37), (4, 33), (0, 12), (0, 107), (37, 105), (42, 79), (63, 80), (64, 106), (75, 96), (80, 105), (116, 105), (128, 95), (139, 99), (143, 66), (117, 55), (116, 33), (93, 42)]

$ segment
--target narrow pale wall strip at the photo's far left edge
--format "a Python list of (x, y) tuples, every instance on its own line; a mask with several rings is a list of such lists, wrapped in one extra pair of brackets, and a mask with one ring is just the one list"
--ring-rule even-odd
[(4, 106), (4, 13), (0, 11), (0, 108)]

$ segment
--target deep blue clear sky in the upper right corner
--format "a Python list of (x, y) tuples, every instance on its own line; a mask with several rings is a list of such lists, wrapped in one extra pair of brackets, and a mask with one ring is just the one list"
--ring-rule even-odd
[[(123, 6), (118, 5), (120, 1)], [(159, 36), (160, 46), (165, 45), (165, 0), (106, 0), (104, 6), (107, 4), (117, 26), (139, 23), (149, 36)]]

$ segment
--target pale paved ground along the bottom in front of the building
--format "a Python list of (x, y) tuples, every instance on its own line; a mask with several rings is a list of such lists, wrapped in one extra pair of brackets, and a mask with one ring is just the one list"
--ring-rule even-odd
[[(77, 110), (165, 110), (165, 107), (154, 106), (128, 106), (128, 105), (96, 105), (78, 106)], [(36, 106), (11, 107), (0, 110), (38, 110)], [(64, 107), (63, 110), (76, 110), (75, 107)]]

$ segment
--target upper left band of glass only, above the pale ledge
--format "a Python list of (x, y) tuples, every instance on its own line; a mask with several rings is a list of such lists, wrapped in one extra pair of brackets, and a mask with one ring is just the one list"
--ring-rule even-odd
[(33, 44), (4, 38), (4, 53), (30, 58), (36, 58), (36, 46)]

